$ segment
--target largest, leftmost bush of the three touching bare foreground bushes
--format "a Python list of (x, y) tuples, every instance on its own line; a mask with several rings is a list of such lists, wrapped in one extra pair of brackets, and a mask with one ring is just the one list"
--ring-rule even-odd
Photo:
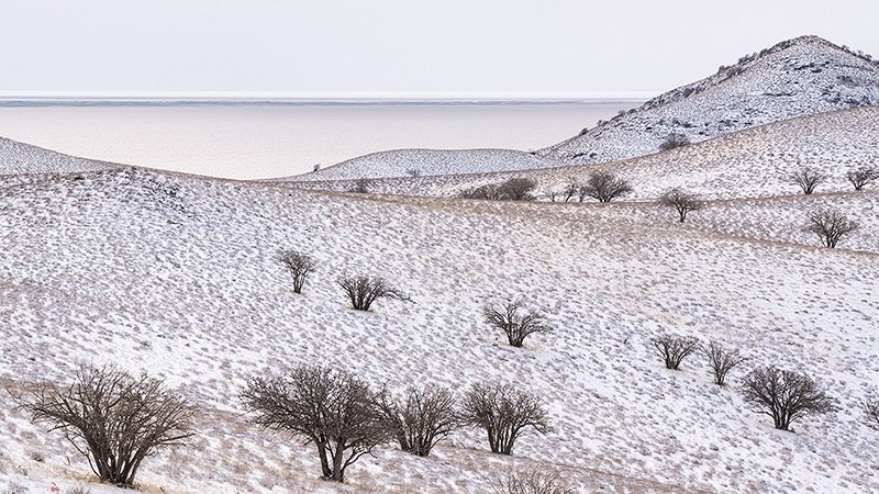
[(390, 439), (376, 393), (345, 370), (303, 364), (256, 378), (242, 401), (255, 424), (313, 444), (321, 473), (332, 481), (344, 482), (345, 469)]

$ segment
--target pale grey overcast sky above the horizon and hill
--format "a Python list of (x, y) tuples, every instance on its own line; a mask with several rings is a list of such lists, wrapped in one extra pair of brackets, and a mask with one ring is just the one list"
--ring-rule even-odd
[(879, 1), (0, 0), (0, 96), (656, 93)]

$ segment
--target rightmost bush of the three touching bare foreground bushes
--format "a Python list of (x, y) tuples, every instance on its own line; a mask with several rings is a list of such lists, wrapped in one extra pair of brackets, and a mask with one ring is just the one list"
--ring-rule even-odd
[(491, 452), (512, 454), (515, 440), (528, 428), (549, 431), (549, 419), (541, 400), (512, 385), (476, 383), (465, 393), (461, 418), (485, 429)]

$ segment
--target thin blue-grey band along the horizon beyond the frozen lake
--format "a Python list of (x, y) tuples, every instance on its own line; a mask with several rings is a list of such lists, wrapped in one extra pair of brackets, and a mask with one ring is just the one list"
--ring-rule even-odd
[(4, 98), (0, 106), (352, 106), (352, 105), (548, 105), (637, 103), (644, 98), (572, 98), (572, 99), (303, 99), (303, 98)]

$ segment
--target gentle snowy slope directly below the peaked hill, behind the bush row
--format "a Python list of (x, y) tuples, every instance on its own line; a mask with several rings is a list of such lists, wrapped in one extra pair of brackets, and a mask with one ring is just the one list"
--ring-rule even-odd
[[(788, 176), (802, 167), (828, 175), (819, 191), (847, 191), (848, 170), (879, 167), (879, 106), (791, 119), (624, 161), (501, 173), (405, 177), (369, 180), (368, 190), (404, 195), (453, 197), (465, 189), (511, 177), (537, 182), (539, 199), (572, 178), (585, 181), (611, 171), (633, 186), (626, 200), (654, 200), (672, 187), (704, 199), (768, 198), (799, 191)], [(349, 190), (353, 181), (286, 182), (291, 187)], [(877, 187), (877, 186), (872, 186)]]

